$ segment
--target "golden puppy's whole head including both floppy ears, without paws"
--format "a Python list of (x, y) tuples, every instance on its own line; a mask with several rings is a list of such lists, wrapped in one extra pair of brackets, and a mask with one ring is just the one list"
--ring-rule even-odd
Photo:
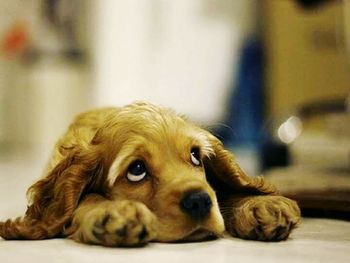
[(18, 237), (64, 234), (80, 200), (98, 193), (144, 203), (157, 217), (158, 241), (199, 240), (225, 229), (215, 191), (271, 192), (215, 136), (169, 109), (135, 103), (106, 111), (102, 123), (86, 134), (78, 129), (71, 146), (60, 147), (65, 157), (31, 188)]

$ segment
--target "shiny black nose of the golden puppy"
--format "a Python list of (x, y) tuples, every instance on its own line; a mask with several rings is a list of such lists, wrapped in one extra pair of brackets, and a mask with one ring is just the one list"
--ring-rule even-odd
[(182, 210), (194, 219), (206, 217), (211, 208), (211, 200), (206, 192), (190, 192), (181, 200)]

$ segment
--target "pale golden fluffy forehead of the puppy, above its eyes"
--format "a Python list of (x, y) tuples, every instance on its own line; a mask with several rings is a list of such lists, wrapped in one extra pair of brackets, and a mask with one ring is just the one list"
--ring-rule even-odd
[(202, 146), (203, 154), (212, 152), (208, 132), (168, 108), (147, 103), (131, 104), (111, 116), (108, 123), (105, 127), (107, 137), (112, 137), (117, 151), (124, 146), (132, 148), (144, 143), (177, 151)]

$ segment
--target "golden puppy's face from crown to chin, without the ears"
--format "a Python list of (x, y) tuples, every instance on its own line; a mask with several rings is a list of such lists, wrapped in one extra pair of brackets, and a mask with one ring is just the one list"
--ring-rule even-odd
[[(157, 217), (157, 240), (219, 236), (224, 222), (204, 160), (213, 149), (210, 133), (173, 112), (137, 105), (111, 121), (107, 175), (113, 199), (144, 203)], [(111, 132), (112, 131), (112, 132)]]

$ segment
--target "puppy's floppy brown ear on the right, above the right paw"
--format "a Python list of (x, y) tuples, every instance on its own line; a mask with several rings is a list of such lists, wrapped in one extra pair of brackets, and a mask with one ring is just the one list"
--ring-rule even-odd
[(209, 183), (222, 192), (249, 194), (276, 194), (275, 187), (263, 177), (250, 177), (237, 164), (234, 155), (212, 134), (209, 141), (213, 154), (206, 158), (204, 166)]

